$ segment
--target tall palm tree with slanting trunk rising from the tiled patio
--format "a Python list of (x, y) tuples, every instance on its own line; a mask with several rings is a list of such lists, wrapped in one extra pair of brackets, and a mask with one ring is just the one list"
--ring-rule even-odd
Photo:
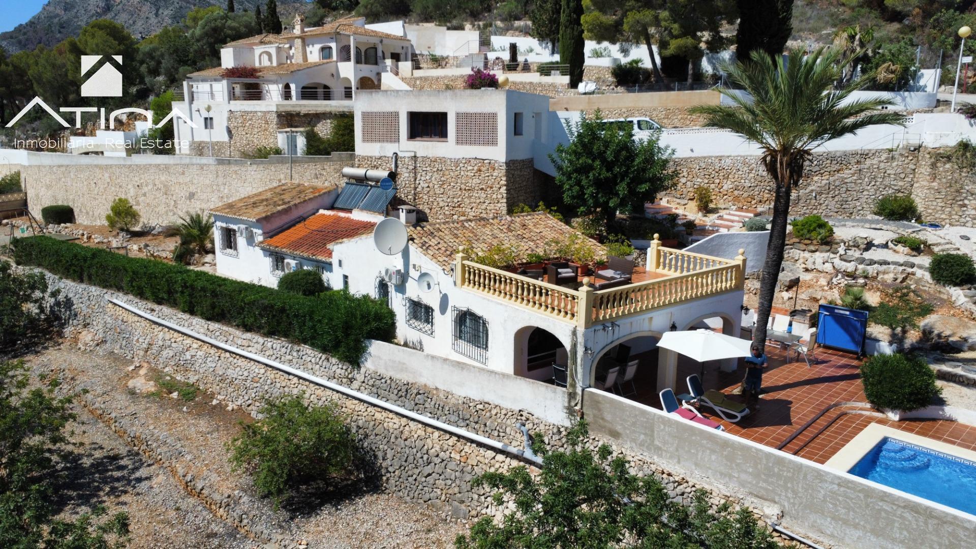
[(759, 348), (766, 341), (766, 322), (783, 265), (790, 194), (803, 179), (803, 167), (813, 150), (874, 124), (904, 125), (905, 120), (902, 114), (878, 111), (892, 105), (890, 100), (851, 100), (853, 92), (872, 82), (872, 74), (862, 75), (843, 88), (834, 88), (844, 63), (849, 63), (843, 52), (819, 48), (804, 58), (802, 49), (794, 49), (789, 59), (785, 63), (783, 56), (774, 59), (753, 51), (750, 63), (724, 67), (732, 84), (741, 88), (718, 90), (733, 105), (691, 108), (705, 116), (707, 126), (732, 130), (758, 144), (762, 148), (760, 161), (775, 185), (752, 338), (753, 345)]

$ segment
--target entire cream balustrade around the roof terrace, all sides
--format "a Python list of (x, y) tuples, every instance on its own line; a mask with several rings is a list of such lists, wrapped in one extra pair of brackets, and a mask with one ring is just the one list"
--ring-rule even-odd
[(655, 238), (649, 251), (649, 265), (634, 273), (633, 283), (594, 290), (589, 279), (579, 289), (550, 284), (520, 274), (486, 267), (459, 254), (455, 273), (458, 285), (469, 291), (531, 309), (542, 315), (589, 328), (594, 322), (609, 322), (682, 303), (742, 289), (746, 258), (740, 250), (729, 260), (660, 245)]

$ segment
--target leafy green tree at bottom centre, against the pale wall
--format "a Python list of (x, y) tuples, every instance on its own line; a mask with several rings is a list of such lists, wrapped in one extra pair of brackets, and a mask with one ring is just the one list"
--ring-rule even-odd
[(748, 509), (732, 511), (723, 504), (710, 511), (704, 490), (685, 507), (669, 501), (667, 490), (653, 476), (630, 473), (623, 456), (611, 459), (607, 444), (593, 451), (587, 445), (585, 421), (566, 434), (564, 451), (547, 451), (539, 475), (524, 465), (508, 473), (489, 472), (473, 486), (495, 491), (497, 505), (505, 496), (514, 509), (501, 524), (491, 517), (475, 523), (468, 535), (459, 534), (459, 549), (610, 549), (612, 547), (706, 547), (772, 549), (772, 535), (757, 524)]

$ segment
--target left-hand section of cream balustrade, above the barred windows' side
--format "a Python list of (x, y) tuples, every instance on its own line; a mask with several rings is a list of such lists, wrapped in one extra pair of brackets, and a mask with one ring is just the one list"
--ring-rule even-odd
[(580, 292), (520, 274), (508, 273), (464, 259), (459, 255), (455, 269), (458, 282), (472, 289), (551, 317), (576, 321)]

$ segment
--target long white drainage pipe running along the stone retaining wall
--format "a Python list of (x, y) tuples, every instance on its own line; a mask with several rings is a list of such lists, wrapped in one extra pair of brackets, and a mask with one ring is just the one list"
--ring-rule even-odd
[[(287, 365), (282, 364), (280, 362), (276, 362), (276, 361), (270, 360), (270, 359), (265, 359), (264, 357), (262, 357), (260, 355), (255, 355), (254, 353), (249, 353), (249, 352), (244, 351), (242, 349), (237, 349), (236, 347), (232, 347), (232, 346), (227, 345), (227, 344), (225, 344), (223, 342), (217, 341), (216, 339), (213, 339), (211, 337), (207, 337), (205, 335), (198, 334), (198, 333), (196, 333), (196, 332), (194, 332), (192, 330), (188, 330), (188, 329), (184, 328), (183, 326), (174, 324), (173, 322), (164, 320), (164, 319), (159, 318), (159, 317), (153, 317), (152, 315), (149, 315), (148, 313), (144, 313), (144, 312), (140, 311), (139, 309), (136, 309), (135, 307), (132, 307), (131, 305), (127, 305), (127, 304), (125, 304), (125, 303), (123, 303), (121, 301), (118, 301), (116, 299), (112, 299), (112, 298), (109, 298), (109, 297), (106, 297), (105, 299), (108, 300), (109, 303), (114, 304), (114, 305), (117, 305), (118, 307), (121, 307), (122, 309), (125, 309), (126, 311), (128, 311), (128, 312), (130, 312), (130, 313), (132, 313), (132, 314), (134, 314), (134, 315), (136, 315), (138, 317), (145, 318), (146, 320), (149, 320), (150, 322), (159, 324), (161, 326), (165, 326), (165, 327), (167, 327), (167, 328), (169, 328), (169, 329), (171, 329), (173, 331), (182, 333), (183, 335), (185, 335), (187, 337), (191, 337), (191, 338), (193, 338), (193, 339), (195, 339), (197, 341), (202, 341), (203, 343), (206, 343), (208, 345), (212, 345), (214, 347), (217, 347), (218, 349), (222, 349), (222, 350), (226, 351), (227, 353), (232, 353), (234, 355), (237, 355), (238, 357), (243, 357), (245, 359), (249, 359), (249, 360), (254, 360), (256, 362), (260, 362), (260, 363), (264, 364), (265, 366), (274, 368), (274, 369), (276, 369), (276, 370), (278, 370), (280, 372), (286, 373), (288, 375), (291, 375), (291, 376), (295, 376), (295, 377), (304, 379), (305, 381), (307, 381), (309, 383), (312, 383), (312, 384), (315, 384), (315, 385), (318, 385), (319, 387), (324, 387), (326, 389), (335, 391), (336, 393), (341, 393), (343, 395), (346, 395), (346, 397), (349, 397), (350, 399), (355, 399), (357, 401), (363, 401), (363, 402), (366, 402), (368, 404), (374, 405), (376, 407), (383, 408), (383, 409), (385, 409), (387, 411), (390, 411), (392, 413), (395, 413), (397, 415), (406, 417), (408, 419), (412, 419), (412, 420), (414, 420), (414, 421), (416, 421), (418, 423), (423, 423), (423, 424), (425, 424), (425, 425), (427, 425), (429, 427), (432, 427), (434, 429), (437, 429), (439, 431), (444, 431), (446, 433), (450, 433), (450, 434), (452, 434), (452, 435), (454, 435), (456, 437), (462, 438), (462, 439), (468, 439), (468, 441), (471, 441), (472, 443), (478, 443), (478, 444), (481, 444), (481, 445), (484, 445), (484, 446), (488, 446), (488, 447), (491, 447), (491, 448), (495, 448), (495, 449), (500, 450), (500, 451), (504, 451), (504, 452), (506, 452), (508, 454), (511, 454), (511, 455), (517, 457), (518, 459), (522, 459), (522, 460), (525, 460), (525, 461), (529, 461), (529, 462), (531, 462), (531, 463), (533, 463), (535, 465), (542, 466), (542, 464), (543, 464), (543, 460), (540, 457), (538, 457), (535, 454), (533, 454), (531, 449), (529, 449), (528, 451), (523, 450), (523, 449), (518, 449), (518, 448), (515, 448), (515, 447), (512, 447), (512, 446), (509, 446), (507, 443), (501, 443), (501, 442), (495, 441), (493, 439), (489, 439), (487, 437), (482, 437), (481, 435), (477, 435), (475, 433), (471, 433), (470, 431), (465, 431), (464, 429), (459, 429), (459, 428), (457, 428), (457, 427), (455, 427), (453, 425), (449, 425), (449, 424), (444, 423), (442, 421), (437, 421), (436, 419), (431, 419), (431, 418), (427, 417), (426, 415), (421, 415), (419, 413), (412, 412), (412, 411), (410, 411), (410, 410), (408, 410), (406, 408), (397, 406), (395, 404), (391, 404), (391, 403), (386, 402), (386, 401), (381, 401), (379, 399), (375, 399), (373, 397), (370, 397), (369, 395), (365, 395), (363, 393), (359, 393), (358, 391), (353, 391), (351, 389), (348, 389), (346, 387), (343, 387), (342, 385), (338, 385), (336, 383), (333, 383), (331, 381), (322, 379), (320, 377), (307, 374), (307, 373), (305, 373), (302, 370), (295, 369), (295, 368), (293, 368), (291, 366), (287, 366)], [(519, 425), (519, 428), (520, 429), (521, 429), (521, 427), (522, 426)], [(528, 446), (528, 441), (526, 441), (526, 447), (527, 448), (529, 447)]]

